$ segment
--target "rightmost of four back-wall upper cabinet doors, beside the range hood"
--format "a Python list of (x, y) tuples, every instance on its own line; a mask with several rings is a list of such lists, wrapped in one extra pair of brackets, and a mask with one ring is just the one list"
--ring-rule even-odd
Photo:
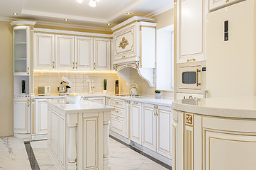
[(110, 40), (94, 38), (94, 69), (110, 69)]

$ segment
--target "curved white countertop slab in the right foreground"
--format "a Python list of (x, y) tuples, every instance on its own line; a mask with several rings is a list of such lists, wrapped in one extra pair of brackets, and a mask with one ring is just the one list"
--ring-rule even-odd
[(172, 108), (199, 115), (256, 119), (256, 96), (175, 100)]

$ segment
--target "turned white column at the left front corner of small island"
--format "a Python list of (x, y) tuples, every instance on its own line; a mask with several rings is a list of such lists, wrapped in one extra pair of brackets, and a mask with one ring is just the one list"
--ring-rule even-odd
[(77, 169), (77, 114), (68, 114), (67, 115), (67, 125), (69, 128), (69, 145), (67, 152), (67, 169), (76, 170)]

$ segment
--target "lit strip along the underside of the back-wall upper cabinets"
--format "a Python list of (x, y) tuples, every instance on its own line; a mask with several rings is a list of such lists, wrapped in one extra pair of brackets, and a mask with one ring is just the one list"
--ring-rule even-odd
[(51, 70), (51, 69), (34, 69), (34, 73), (116, 73), (115, 70)]

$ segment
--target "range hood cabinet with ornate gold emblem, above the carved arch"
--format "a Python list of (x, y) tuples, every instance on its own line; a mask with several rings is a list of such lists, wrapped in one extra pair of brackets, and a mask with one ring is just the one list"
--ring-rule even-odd
[(154, 18), (134, 16), (111, 28), (113, 64), (138, 62), (142, 68), (155, 68)]

